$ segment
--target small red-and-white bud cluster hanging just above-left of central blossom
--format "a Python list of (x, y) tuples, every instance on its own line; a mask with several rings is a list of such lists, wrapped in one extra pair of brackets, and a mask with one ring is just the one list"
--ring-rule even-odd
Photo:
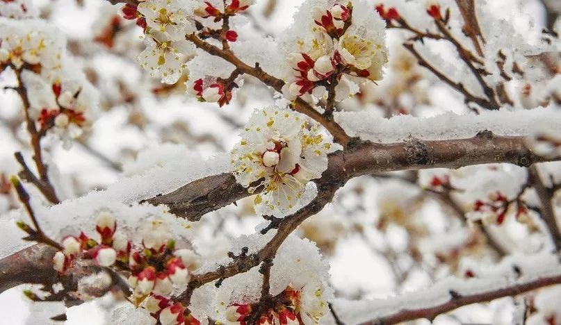
[(226, 84), (220, 78), (206, 77), (195, 80), (188, 92), (194, 94), (199, 101), (218, 103), (222, 107), (230, 102), (231, 90), (235, 86), (235, 83)]

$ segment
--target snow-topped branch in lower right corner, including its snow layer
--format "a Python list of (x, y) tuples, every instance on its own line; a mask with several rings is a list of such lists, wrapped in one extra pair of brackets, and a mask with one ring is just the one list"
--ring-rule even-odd
[(485, 278), (444, 278), (430, 288), (398, 297), (366, 301), (336, 299), (334, 308), (345, 324), (387, 325), (419, 318), (434, 319), (471, 303), (561, 283), (559, 257), (550, 253), (510, 256), (492, 268), (487, 270)]

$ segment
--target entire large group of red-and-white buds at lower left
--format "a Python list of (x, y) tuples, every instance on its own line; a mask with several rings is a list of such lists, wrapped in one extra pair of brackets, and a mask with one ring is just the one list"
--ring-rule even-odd
[(200, 257), (190, 249), (176, 249), (168, 225), (161, 220), (148, 222), (142, 243), (133, 247), (127, 235), (117, 231), (115, 217), (108, 212), (97, 216), (95, 235), (67, 236), (53, 259), (54, 269), (65, 274), (76, 258), (86, 258), (101, 267), (129, 273), (133, 301), (141, 303), (161, 324), (200, 324), (184, 315), (186, 307), (168, 296), (174, 285), (186, 285), (190, 272), (199, 267)]

